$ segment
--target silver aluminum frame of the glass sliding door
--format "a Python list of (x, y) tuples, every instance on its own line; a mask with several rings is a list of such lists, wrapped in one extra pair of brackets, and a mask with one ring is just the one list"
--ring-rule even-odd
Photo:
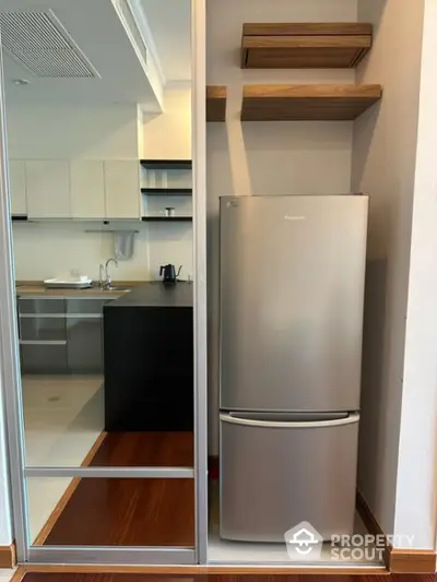
[[(10, 470), (5, 483), (12, 496), (12, 513), (19, 562), (193, 565), (206, 562), (208, 548), (208, 426), (206, 426), (206, 161), (205, 161), (205, 0), (191, 0), (192, 152), (193, 152), (193, 319), (194, 319), (194, 467), (80, 468), (25, 467), (24, 421), (21, 393), (15, 276), (12, 253), (9, 156), (4, 98), (3, 57), (0, 43), (0, 418), (7, 425), (0, 433), (0, 458)], [(3, 393), (4, 404), (3, 408)], [(7, 421), (8, 419), (8, 421)], [(1, 428), (1, 427), (0, 427)], [(8, 453), (9, 452), (9, 458)], [(32, 547), (28, 534), (27, 477), (82, 476), (120, 478), (193, 478), (196, 497), (196, 545), (186, 547), (46, 546)]]

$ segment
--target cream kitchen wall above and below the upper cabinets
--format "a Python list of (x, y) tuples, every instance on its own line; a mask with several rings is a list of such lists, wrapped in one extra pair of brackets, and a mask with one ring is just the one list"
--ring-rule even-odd
[[(179, 98), (179, 97), (178, 97)], [(11, 158), (139, 159), (172, 157), (172, 144), (190, 140), (184, 96), (180, 119), (175, 111), (156, 127), (158, 150), (153, 151), (155, 136), (145, 143), (144, 116), (135, 105), (101, 104), (74, 106), (54, 104), (7, 104), (9, 155)], [(172, 99), (170, 99), (170, 103)], [(165, 116), (160, 116), (160, 118)], [(175, 121), (175, 119), (177, 121)], [(167, 154), (165, 144), (168, 144)], [(188, 152), (182, 157), (190, 157)], [(116, 225), (111, 223), (109, 228)], [(125, 223), (128, 230), (138, 229), (134, 256), (120, 261), (114, 278), (147, 281), (158, 278), (161, 264), (184, 265), (181, 276), (192, 274), (192, 227), (189, 223), (152, 224)], [(16, 277), (20, 281), (42, 281), (80, 271), (98, 277), (98, 264), (114, 257), (114, 236), (85, 233), (101, 229), (102, 223), (39, 223), (13, 225)]]

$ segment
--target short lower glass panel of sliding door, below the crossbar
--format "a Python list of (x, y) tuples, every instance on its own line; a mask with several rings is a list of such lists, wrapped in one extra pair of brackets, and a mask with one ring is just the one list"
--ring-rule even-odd
[(194, 546), (194, 480), (29, 477), (34, 546)]

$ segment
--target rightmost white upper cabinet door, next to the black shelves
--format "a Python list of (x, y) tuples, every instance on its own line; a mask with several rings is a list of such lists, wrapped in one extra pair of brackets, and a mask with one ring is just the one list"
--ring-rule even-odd
[(107, 218), (141, 218), (138, 161), (105, 162)]

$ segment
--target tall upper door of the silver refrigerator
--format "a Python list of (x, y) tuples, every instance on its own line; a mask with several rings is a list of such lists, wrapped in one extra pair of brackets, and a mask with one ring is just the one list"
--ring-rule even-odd
[(359, 408), (367, 210), (221, 199), (221, 408)]

